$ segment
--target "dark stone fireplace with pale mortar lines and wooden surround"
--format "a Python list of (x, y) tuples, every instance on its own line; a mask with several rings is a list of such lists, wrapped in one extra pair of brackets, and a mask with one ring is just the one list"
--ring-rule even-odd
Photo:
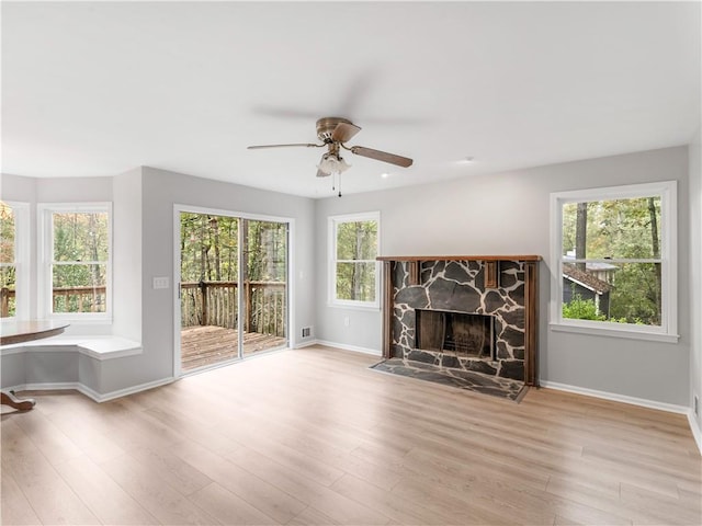
[(537, 255), (382, 256), (383, 354), (536, 384)]

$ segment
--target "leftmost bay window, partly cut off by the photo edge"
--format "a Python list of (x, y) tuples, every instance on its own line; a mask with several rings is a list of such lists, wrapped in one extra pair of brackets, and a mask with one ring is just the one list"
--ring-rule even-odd
[(27, 318), (26, 203), (0, 202), (0, 318)]

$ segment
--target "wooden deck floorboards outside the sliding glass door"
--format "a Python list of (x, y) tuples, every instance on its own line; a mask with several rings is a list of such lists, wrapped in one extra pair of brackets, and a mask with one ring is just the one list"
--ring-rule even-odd
[[(184, 328), (180, 333), (181, 369), (183, 371), (238, 357), (238, 332), (214, 325)], [(247, 332), (244, 334), (244, 356), (287, 344), (284, 338)]]

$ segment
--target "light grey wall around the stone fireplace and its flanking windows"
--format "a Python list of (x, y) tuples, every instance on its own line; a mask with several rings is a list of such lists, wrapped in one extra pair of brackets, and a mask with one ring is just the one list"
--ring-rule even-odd
[[(352, 175), (349, 175), (352, 176)], [(401, 176), (401, 173), (398, 174)], [(319, 286), (317, 338), (380, 353), (380, 311), (327, 306), (327, 217), (381, 210), (383, 255), (550, 253), (550, 193), (653, 181), (678, 181), (688, 195), (687, 147), (644, 151), (513, 172), (465, 176), (430, 185), (316, 202)], [(689, 236), (689, 204), (678, 203), (678, 235)], [(688, 243), (679, 243), (678, 344), (551, 332), (550, 268), (540, 265), (542, 381), (657, 403), (689, 404), (690, 279)], [(344, 318), (350, 319), (346, 327)]]

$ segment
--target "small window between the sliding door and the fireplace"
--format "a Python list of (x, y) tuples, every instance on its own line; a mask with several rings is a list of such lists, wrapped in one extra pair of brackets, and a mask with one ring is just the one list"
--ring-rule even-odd
[(380, 213), (329, 218), (332, 305), (380, 307)]

